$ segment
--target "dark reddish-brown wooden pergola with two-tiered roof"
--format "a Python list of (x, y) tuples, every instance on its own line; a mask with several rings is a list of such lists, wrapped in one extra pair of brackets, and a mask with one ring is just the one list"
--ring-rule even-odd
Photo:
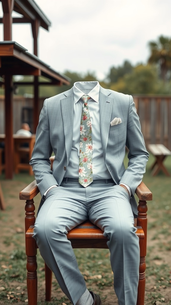
[[(4, 25), (4, 41), (0, 42), (0, 76), (1, 83), (5, 87), (5, 178), (13, 178), (13, 114), (12, 100), (14, 85), (13, 75), (33, 75), (33, 82), (17, 82), (20, 85), (33, 85), (34, 87), (34, 106), (33, 122), (34, 132), (36, 131), (39, 111), (39, 86), (69, 84), (69, 79), (50, 68), (47, 64), (40, 61), (37, 55), (37, 37), (39, 27), (48, 30), (50, 21), (33, 0), (0, 0), (2, 2), (3, 18), (0, 23)], [(22, 15), (21, 18), (12, 18), (12, 11)], [(12, 41), (12, 23), (31, 23), (33, 33), (33, 54), (27, 52), (25, 48)], [(48, 79), (47, 82), (40, 82), (39, 76)], [(50, 80), (50, 81), (49, 81)]]

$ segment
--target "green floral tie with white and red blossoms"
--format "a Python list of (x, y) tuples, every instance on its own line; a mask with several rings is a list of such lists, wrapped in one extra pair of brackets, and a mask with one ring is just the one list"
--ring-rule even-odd
[(79, 183), (84, 187), (92, 183), (92, 125), (87, 104), (89, 95), (81, 97), (82, 105), (79, 151)]

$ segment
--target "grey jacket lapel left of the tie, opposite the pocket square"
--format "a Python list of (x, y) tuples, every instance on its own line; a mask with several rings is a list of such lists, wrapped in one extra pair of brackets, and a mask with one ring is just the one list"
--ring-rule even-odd
[(64, 99), (61, 99), (61, 111), (62, 111), (62, 119), (64, 125), (67, 162), (69, 163), (69, 158), (72, 149), (72, 137), (73, 137), (74, 94), (73, 94), (73, 90), (69, 90), (67, 91), (67, 93), (69, 95), (67, 94), (68, 96), (66, 96)]

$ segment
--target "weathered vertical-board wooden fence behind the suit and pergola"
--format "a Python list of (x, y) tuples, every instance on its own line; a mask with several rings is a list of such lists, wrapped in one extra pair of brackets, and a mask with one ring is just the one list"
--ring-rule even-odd
[[(140, 118), (145, 144), (164, 144), (171, 150), (171, 96), (134, 95), (134, 102)], [(39, 100), (39, 109), (44, 98)], [(26, 116), (24, 116), (24, 110)], [(30, 110), (30, 111), (29, 111)], [(30, 123), (32, 129), (33, 100), (14, 96), (13, 132), (16, 133), (23, 121)], [(4, 133), (4, 99), (0, 96), (0, 133)]]

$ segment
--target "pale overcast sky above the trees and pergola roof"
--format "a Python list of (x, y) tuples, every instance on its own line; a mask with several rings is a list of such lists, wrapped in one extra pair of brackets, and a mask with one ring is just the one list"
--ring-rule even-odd
[[(89, 70), (103, 79), (111, 66), (121, 65), (125, 59), (133, 65), (146, 63), (148, 41), (161, 34), (171, 37), (171, 0), (35, 2), (51, 21), (49, 32), (40, 29), (38, 56), (58, 72)], [(30, 25), (14, 24), (12, 40), (33, 52)]]

